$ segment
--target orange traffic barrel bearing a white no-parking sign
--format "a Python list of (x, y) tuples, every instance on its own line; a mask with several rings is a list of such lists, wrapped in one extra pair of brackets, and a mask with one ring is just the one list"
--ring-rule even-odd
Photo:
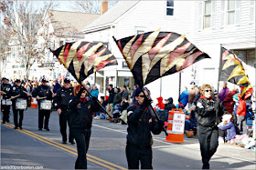
[(182, 109), (172, 109), (168, 115), (168, 125), (165, 142), (184, 143), (185, 114)]

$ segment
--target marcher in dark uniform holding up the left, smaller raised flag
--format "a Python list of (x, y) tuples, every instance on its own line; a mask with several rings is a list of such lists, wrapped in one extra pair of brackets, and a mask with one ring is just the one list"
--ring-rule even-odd
[[(76, 92), (78, 92), (77, 95)], [(78, 149), (75, 169), (87, 169), (86, 154), (91, 137), (92, 114), (101, 109), (101, 106), (96, 102), (97, 98), (95, 96), (87, 98), (86, 94), (87, 92), (83, 86), (76, 86), (76, 96), (69, 103), (69, 108), (72, 110), (70, 112), (71, 133), (76, 139)]]

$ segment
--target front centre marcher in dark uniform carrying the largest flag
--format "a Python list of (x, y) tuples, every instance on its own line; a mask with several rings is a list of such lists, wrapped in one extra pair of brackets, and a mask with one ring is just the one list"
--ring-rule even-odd
[[(145, 95), (149, 91), (144, 90)], [(129, 169), (139, 169), (141, 162), (142, 169), (153, 169), (152, 166), (152, 147), (154, 135), (159, 135), (164, 126), (163, 121), (156, 122), (152, 110), (149, 109), (150, 100), (144, 96), (140, 88), (134, 92), (133, 105), (128, 107), (128, 128), (126, 158)]]

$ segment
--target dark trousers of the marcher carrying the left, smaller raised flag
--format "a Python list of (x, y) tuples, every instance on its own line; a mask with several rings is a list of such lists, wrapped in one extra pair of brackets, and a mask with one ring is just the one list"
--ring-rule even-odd
[(87, 169), (86, 154), (90, 144), (91, 129), (80, 130), (72, 128), (71, 133), (76, 139), (78, 149), (78, 158), (76, 160), (75, 169)]

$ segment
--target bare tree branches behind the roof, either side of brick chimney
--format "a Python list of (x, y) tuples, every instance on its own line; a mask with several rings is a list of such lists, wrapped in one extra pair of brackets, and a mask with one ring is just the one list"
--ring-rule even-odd
[(75, 1), (74, 9), (80, 10), (83, 13), (101, 14), (101, 1), (109, 2), (109, 9), (115, 5), (119, 0), (80, 0)]

